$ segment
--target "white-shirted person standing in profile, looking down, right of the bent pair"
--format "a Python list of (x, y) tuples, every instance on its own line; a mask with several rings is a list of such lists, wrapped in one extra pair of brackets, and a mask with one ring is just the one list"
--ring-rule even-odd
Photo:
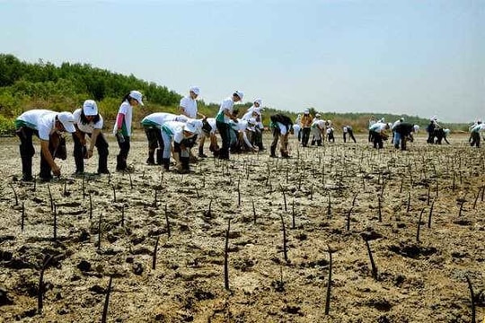
[(229, 146), (231, 144), (231, 127), (229, 120), (237, 120), (234, 116), (234, 102), (242, 101), (244, 93), (242, 91), (235, 91), (231, 97), (226, 98), (221, 102), (219, 112), (216, 115), (217, 131), (221, 135), (222, 147), (219, 150), (219, 159), (229, 160)]

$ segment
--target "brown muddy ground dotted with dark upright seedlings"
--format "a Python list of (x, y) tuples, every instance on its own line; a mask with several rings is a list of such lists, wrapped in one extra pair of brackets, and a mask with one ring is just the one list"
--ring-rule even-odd
[(289, 160), (208, 158), (181, 175), (146, 166), (139, 135), (128, 175), (114, 171), (110, 136), (110, 176), (74, 178), (70, 152), (48, 185), (17, 181), (17, 140), (0, 139), (0, 321), (101, 321), (110, 277), (108, 322), (471, 322), (466, 277), (484, 320), (484, 149), (466, 136), (430, 146), (421, 135), (408, 152), (339, 139), (291, 139)]

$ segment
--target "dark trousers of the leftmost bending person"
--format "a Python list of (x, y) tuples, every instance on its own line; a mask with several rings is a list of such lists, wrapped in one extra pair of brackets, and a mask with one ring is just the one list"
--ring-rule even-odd
[[(31, 129), (29, 127), (21, 127), (17, 129), (16, 134), (21, 140), (20, 144), (20, 154), (22, 158), (22, 177), (23, 179), (30, 180), (32, 178), (32, 157), (35, 154), (35, 149), (32, 144), (32, 136), (36, 135), (39, 137), (39, 132), (37, 130)], [(49, 140), (48, 150), (52, 154), (52, 158), (56, 158), (56, 148), (54, 144)], [(40, 150), (40, 178), (41, 179), (51, 179), (52, 174), (50, 172), (50, 165), (44, 158), (42, 150)]]

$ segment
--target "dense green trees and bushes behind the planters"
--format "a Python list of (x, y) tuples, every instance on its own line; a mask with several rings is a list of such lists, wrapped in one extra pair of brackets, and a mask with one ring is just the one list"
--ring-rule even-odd
[[(101, 114), (107, 121), (107, 127), (113, 122), (118, 112), (121, 98), (130, 90), (144, 93), (145, 107), (137, 109), (135, 120), (155, 111), (175, 112), (181, 94), (168, 90), (165, 86), (137, 79), (134, 75), (112, 73), (108, 70), (87, 64), (63, 63), (60, 66), (52, 63), (31, 64), (20, 61), (17, 57), (0, 54), (0, 135), (13, 134), (13, 120), (27, 109), (74, 110), (84, 100), (98, 102)], [(243, 113), (251, 103), (240, 105)], [(199, 100), (198, 108), (207, 116), (215, 116), (218, 104)], [(304, 109), (304, 107), (302, 107)], [(269, 124), (269, 116), (280, 112), (278, 109), (266, 108), (263, 118)], [(312, 112), (316, 112), (312, 109)], [(293, 112), (285, 112), (296, 118)], [(322, 113), (322, 112), (321, 112)], [(322, 118), (331, 119), (335, 127), (350, 124), (357, 131), (366, 129), (369, 113), (322, 113)], [(399, 116), (375, 114), (392, 122)], [(427, 120), (405, 116), (407, 121), (426, 126)], [(137, 122), (134, 123), (137, 126)]]

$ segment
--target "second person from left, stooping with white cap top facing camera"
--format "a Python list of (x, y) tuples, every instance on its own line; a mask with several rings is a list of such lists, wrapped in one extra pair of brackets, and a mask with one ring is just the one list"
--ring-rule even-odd
[[(94, 147), (98, 149), (98, 174), (109, 174), (108, 170), (108, 142), (101, 133), (103, 126), (102, 117), (98, 111), (98, 105), (94, 100), (85, 100), (83, 108), (76, 109), (73, 113), (75, 118), (74, 157), (75, 174), (84, 174), (84, 158), (93, 157)], [(91, 138), (89, 148), (86, 149), (86, 135)]]

